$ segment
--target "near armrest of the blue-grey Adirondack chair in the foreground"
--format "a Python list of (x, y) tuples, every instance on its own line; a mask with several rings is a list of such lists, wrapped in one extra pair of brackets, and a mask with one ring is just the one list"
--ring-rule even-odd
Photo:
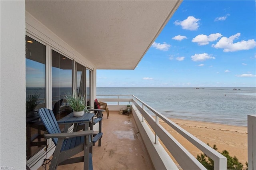
[(44, 134), (44, 138), (72, 138), (76, 136), (87, 136), (92, 135), (94, 132), (93, 130), (85, 130), (85, 131), (78, 131), (78, 132), (66, 132), (66, 133), (55, 133), (55, 134)]

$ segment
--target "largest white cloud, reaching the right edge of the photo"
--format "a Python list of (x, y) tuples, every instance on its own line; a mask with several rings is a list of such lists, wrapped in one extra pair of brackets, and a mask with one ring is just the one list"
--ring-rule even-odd
[(237, 33), (234, 36), (230, 36), (229, 38), (222, 37), (215, 45), (213, 44), (212, 47), (223, 48), (224, 52), (230, 52), (252, 49), (256, 46), (254, 39), (248, 41), (242, 40), (240, 42), (233, 43), (233, 41), (238, 37), (240, 37), (240, 33)]

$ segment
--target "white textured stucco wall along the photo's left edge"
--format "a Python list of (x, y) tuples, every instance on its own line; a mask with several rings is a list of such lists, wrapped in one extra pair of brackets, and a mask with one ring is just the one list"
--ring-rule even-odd
[(25, 1), (1, 0), (0, 16), (0, 168), (26, 170)]

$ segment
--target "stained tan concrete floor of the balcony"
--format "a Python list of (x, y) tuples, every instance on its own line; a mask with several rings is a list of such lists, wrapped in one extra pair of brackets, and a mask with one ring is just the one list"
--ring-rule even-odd
[[(94, 170), (152, 170), (154, 167), (138, 133), (132, 114), (120, 115), (111, 111), (109, 118), (103, 112), (102, 143), (93, 146)], [(83, 152), (78, 155), (81, 156)], [(40, 167), (39, 169), (41, 169)], [(58, 166), (61, 170), (82, 170), (83, 162)]]

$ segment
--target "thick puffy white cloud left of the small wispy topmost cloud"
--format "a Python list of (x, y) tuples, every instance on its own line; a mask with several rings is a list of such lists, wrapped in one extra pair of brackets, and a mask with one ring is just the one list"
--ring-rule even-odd
[(184, 30), (195, 31), (199, 27), (199, 20), (199, 18), (195, 18), (194, 16), (188, 16), (188, 18), (183, 21), (176, 20), (174, 24), (176, 26), (180, 25)]

